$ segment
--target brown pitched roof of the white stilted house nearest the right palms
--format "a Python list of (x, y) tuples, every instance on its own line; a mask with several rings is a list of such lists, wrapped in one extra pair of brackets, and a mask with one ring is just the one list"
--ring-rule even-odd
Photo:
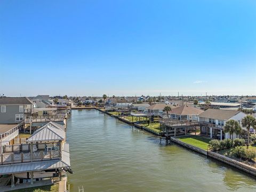
[(207, 109), (203, 113), (199, 114), (199, 117), (228, 120), (238, 113), (242, 112), (233, 110)]

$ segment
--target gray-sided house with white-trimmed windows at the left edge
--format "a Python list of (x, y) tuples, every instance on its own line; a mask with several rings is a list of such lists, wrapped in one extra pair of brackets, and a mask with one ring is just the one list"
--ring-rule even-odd
[(17, 124), (31, 116), (33, 102), (23, 98), (0, 98), (0, 124)]

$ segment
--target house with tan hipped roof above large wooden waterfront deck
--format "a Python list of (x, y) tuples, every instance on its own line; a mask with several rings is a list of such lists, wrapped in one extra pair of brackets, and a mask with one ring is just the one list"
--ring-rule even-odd
[(169, 117), (178, 120), (198, 121), (198, 115), (204, 111), (191, 106), (180, 106), (169, 111)]

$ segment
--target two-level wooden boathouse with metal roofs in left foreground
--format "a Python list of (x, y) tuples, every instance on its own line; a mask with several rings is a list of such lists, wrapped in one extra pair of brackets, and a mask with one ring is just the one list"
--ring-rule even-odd
[[(36, 130), (26, 144), (2, 146), (0, 175), (11, 179), (11, 185), (2, 186), (2, 189), (26, 187), (27, 182), (34, 185), (38, 179), (43, 179), (47, 185), (52, 184), (52, 179), (61, 180), (62, 170), (70, 168), (69, 145), (64, 129), (49, 122)], [(0, 183), (2, 180), (5, 178), (0, 178)]]

